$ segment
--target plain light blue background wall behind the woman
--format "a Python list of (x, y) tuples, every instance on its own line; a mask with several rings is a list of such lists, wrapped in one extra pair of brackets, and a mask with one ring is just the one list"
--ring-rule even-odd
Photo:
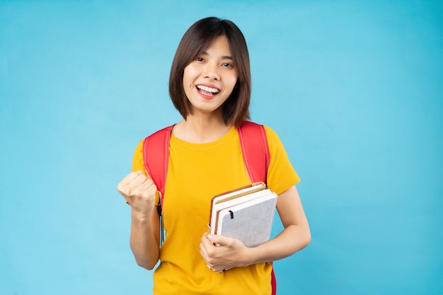
[[(150, 294), (115, 189), (180, 116), (185, 30), (234, 21), (313, 240), (279, 294), (443, 294), (442, 1), (0, 1), (0, 294)], [(274, 233), (280, 231), (275, 223)]]

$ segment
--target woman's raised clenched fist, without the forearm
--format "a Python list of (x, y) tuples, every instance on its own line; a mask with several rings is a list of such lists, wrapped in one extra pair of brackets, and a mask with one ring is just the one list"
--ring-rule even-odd
[(156, 185), (142, 171), (126, 175), (117, 185), (117, 190), (135, 212), (145, 216), (151, 214), (158, 201)]

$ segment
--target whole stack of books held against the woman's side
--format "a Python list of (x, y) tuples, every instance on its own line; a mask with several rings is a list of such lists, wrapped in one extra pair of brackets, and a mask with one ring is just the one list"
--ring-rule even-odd
[(269, 240), (277, 195), (264, 183), (226, 192), (212, 198), (210, 232), (255, 247)]

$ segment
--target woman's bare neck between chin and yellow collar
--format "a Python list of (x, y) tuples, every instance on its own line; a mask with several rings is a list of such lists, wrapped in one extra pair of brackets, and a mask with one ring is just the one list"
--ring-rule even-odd
[(222, 117), (188, 115), (173, 129), (173, 136), (192, 144), (205, 144), (226, 135), (232, 125), (226, 125)]

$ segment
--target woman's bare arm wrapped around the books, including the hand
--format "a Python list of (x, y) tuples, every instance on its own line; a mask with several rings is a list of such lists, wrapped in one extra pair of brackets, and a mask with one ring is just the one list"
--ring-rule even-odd
[(222, 271), (280, 260), (305, 248), (311, 241), (311, 232), (295, 185), (278, 196), (277, 211), (284, 230), (272, 240), (254, 248), (246, 247), (235, 238), (204, 234), (200, 253), (207, 265), (214, 271)]

